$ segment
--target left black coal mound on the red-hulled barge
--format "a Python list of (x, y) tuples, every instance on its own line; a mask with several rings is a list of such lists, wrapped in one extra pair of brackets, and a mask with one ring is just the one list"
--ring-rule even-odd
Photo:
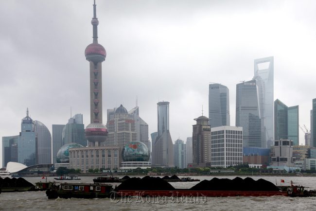
[(118, 190), (140, 190), (140, 191), (165, 191), (175, 190), (175, 188), (160, 177), (145, 176), (132, 177), (122, 182), (117, 187)]

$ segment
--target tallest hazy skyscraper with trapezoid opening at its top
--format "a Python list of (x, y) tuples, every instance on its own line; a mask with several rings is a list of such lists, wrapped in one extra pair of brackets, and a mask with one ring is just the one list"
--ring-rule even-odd
[[(261, 104), (262, 118), (262, 138), (272, 141), (274, 130), (274, 58), (273, 56), (255, 59), (254, 61), (254, 79), (258, 80), (258, 88)], [(260, 84), (261, 83), (261, 84)], [(262, 147), (266, 147), (266, 143)]]

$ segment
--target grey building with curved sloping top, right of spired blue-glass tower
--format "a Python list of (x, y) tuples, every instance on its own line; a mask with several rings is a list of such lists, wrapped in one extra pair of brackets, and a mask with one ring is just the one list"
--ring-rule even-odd
[(45, 124), (35, 120), (36, 164), (52, 163), (52, 135)]

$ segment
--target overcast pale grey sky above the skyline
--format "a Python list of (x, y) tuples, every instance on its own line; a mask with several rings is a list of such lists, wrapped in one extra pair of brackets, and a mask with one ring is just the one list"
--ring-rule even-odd
[[(66, 124), (89, 116), (93, 0), (0, 0), (0, 136), (33, 120)], [(192, 136), (208, 116), (209, 83), (229, 88), (235, 125), (236, 84), (254, 75), (254, 59), (274, 56), (274, 99), (299, 105), (310, 128), (316, 98), (315, 0), (96, 0), (106, 109), (127, 110), (157, 131), (157, 103), (170, 102), (173, 141)], [(106, 121), (104, 121), (106, 123)], [(300, 130), (299, 141), (304, 143)], [(0, 143), (2, 144), (2, 143)], [(2, 156), (1, 156), (2, 158)], [(0, 158), (0, 159), (1, 159)], [(2, 165), (2, 162), (0, 162)]]

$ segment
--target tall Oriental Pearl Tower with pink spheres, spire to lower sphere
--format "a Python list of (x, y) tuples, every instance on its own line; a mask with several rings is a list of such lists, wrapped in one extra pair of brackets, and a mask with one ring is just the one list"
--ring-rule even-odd
[(85, 55), (90, 64), (90, 124), (85, 135), (88, 146), (105, 146), (107, 129), (102, 123), (102, 62), (105, 61), (105, 48), (98, 43), (99, 21), (96, 14), (96, 4), (93, 4), (93, 42), (87, 46)]

